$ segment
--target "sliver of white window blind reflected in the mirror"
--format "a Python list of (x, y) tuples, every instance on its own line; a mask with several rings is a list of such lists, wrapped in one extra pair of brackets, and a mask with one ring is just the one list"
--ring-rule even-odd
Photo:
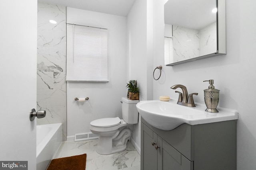
[(164, 64), (173, 63), (172, 37), (164, 37)]

